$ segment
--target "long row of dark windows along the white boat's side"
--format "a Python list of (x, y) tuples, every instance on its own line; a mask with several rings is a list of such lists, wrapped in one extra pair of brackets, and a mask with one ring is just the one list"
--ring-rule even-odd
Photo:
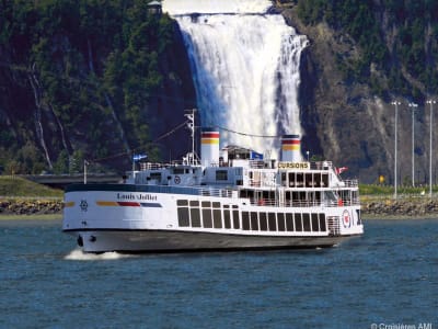
[[(326, 231), (325, 214), (242, 212), (219, 202), (177, 201), (180, 227), (234, 228), (257, 231)], [(241, 222), (242, 219), (242, 222)]]

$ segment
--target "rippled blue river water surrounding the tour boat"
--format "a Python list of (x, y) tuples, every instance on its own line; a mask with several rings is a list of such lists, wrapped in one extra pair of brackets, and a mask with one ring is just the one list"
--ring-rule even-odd
[(149, 256), (0, 220), (0, 328), (438, 328), (438, 219), (367, 220), (324, 250)]

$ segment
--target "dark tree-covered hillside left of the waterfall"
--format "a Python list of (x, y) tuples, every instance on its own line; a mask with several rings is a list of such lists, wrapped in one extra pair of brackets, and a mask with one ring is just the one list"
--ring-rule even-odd
[(132, 150), (160, 157), (151, 141), (184, 121), (194, 91), (182, 82), (177, 25), (148, 2), (0, 2), (3, 171), (71, 172), (84, 158), (127, 164)]

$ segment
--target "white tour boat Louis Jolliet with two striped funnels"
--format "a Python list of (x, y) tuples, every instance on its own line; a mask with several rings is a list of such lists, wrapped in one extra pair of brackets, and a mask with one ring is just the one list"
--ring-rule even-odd
[(316, 248), (364, 232), (357, 180), (304, 161), (298, 135), (283, 137), (277, 161), (235, 146), (220, 155), (219, 132), (204, 128), (200, 163), (191, 152), (140, 164), (119, 184), (67, 186), (62, 230), (83, 251)]

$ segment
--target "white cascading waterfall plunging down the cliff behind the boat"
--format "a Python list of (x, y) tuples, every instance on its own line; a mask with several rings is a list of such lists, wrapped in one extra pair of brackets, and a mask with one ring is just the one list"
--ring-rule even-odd
[[(251, 135), (301, 134), (301, 50), (308, 45), (268, 0), (164, 0), (183, 32), (203, 126)], [(221, 140), (274, 151), (277, 140), (221, 132)]]

